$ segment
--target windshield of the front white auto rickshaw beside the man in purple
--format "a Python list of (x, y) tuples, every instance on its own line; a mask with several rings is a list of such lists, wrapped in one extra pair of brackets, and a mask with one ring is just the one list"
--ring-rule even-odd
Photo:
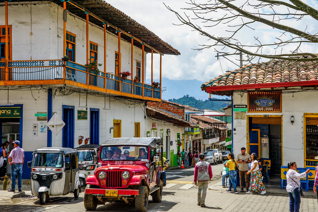
[(63, 167), (63, 154), (61, 153), (36, 153), (32, 167)]

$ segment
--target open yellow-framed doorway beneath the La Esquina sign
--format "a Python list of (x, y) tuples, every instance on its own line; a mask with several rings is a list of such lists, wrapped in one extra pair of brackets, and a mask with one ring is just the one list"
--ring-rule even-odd
[(282, 116), (248, 116), (248, 153), (264, 160), (270, 184), (280, 185)]

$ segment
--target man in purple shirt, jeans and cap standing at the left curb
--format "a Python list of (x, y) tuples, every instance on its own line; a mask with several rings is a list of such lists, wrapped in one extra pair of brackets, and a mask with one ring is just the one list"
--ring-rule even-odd
[(9, 154), (9, 164), (11, 166), (11, 188), (8, 191), (15, 191), (16, 177), (18, 175), (18, 189), (22, 191), (22, 165), (24, 162), (24, 150), (20, 148), (20, 141), (13, 142), (14, 149)]

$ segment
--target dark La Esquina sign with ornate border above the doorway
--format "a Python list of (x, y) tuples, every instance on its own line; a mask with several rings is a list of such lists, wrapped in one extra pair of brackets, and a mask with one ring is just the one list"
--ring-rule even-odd
[(281, 112), (281, 92), (249, 92), (248, 112)]

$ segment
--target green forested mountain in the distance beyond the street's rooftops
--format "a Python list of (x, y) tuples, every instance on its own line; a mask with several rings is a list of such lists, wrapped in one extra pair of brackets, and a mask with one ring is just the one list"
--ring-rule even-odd
[[(217, 98), (212, 98), (217, 99)], [(226, 100), (230, 100), (226, 98)], [(206, 100), (197, 100), (195, 97), (185, 95), (179, 99), (169, 99), (170, 102), (179, 103), (181, 105), (189, 105), (191, 107), (195, 107), (198, 109), (209, 109), (209, 110), (218, 110), (223, 112), (223, 107), (228, 106), (224, 101), (210, 101), (209, 99)]]

